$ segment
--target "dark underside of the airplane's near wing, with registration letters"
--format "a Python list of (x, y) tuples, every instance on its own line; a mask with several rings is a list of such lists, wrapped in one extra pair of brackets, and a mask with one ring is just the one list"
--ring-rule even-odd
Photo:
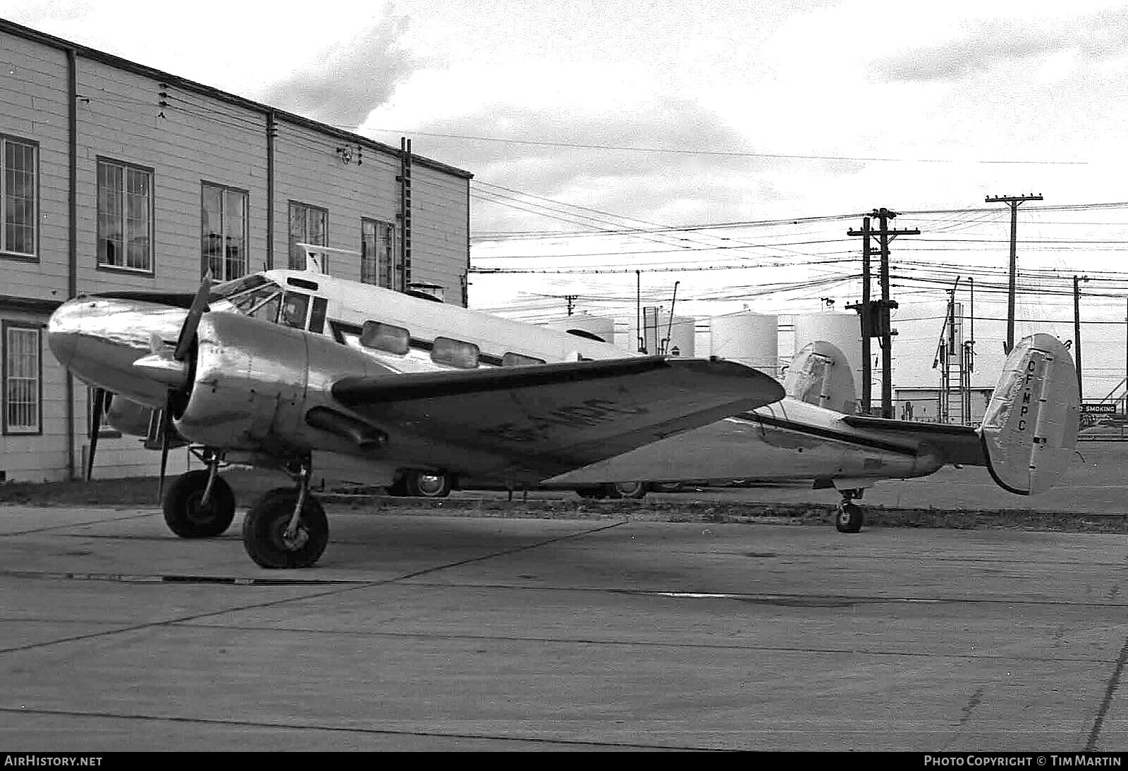
[(347, 376), (333, 396), (391, 437), (457, 447), (462, 472), (539, 480), (777, 401), (784, 390), (735, 362), (637, 356)]

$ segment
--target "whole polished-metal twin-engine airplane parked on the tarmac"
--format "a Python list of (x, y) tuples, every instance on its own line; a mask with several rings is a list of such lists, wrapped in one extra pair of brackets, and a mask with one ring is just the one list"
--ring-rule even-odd
[[(97, 427), (187, 444), (205, 466), (162, 495), (185, 538), (222, 533), (235, 496), (227, 463), (296, 480), (254, 503), (244, 546), (263, 567), (306, 567), (328, 540), (311, 470), (400, 495), (548, 482), (591, 494), (631, 480), (812, 479), (843, 495), (837, 525), (880, 479), (945, 463), (987, 466), (1038, 493), (1072, 458), (1073, 361), (1048, 335), (1015, 346), (981, 429), (851, 415), (841, 354), (818, 344), (792, 366), (791, 396), (768, 375), (715, 360), (628, 354), (613, 345), (321, 273), (265, 271), (191, 294), (114, 292), (61, 305), (55, 356), (95, 388)], [(152, 431), (152, 416), (158, 431)], [(730, 417), (732, 416), (732, 417)]]

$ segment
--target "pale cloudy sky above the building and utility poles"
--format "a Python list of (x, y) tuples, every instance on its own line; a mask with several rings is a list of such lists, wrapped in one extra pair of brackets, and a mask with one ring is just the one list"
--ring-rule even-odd
[(669, 307), (675, 282), (677, 314), (703, 321), (840, 310), (860, 295), (847, 230), (900, 212), (922, 231), (893, 242), (902, 384), (937, 379), (918, 371), (957, 275), (975, 278), (993, 381), (1010, 212), (985, 196), (1039, 193), (1019, 210), (1017, 333), (1072, 338), (1087, 275), (1086, 396), (1123, 378), (1122, 3), (0, 0), (0, 16), (472, 171), (472, 305), (520, 318), (575, 295), (633, 322), (640, 287)]

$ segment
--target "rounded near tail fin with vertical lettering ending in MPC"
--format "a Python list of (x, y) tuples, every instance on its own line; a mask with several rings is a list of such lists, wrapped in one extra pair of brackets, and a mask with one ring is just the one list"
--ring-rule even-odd
[(1079, 414), (1077, 371), (1065, 345), (1046, 334), (1020, 340), (979, 432), (995, 481), (1020, 495), (1050, 489), (1073, 460)]

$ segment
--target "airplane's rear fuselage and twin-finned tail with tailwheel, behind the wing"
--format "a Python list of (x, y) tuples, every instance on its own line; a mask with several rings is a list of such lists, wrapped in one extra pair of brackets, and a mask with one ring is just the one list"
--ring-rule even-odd
[[(855, 415), (845, 356), (817, 342), (788, 371), (787, 397), (547, 480), (581, 495), (644, 495), (677, 480), (812, 480), (841, 496), (836, 526), (861, 530), (853, 503), (884, 479), (923, 477), (951, 463), (987, 467), (1020, 495), (1052, 487), (1075, 458), (1079, 397), (1073, 358), (1051, 335), (1019, 342), (981, 426)], [(618, 480), (618, 482), (616, 482)], [(623, 480), (632, 480), (625, 482)]]

